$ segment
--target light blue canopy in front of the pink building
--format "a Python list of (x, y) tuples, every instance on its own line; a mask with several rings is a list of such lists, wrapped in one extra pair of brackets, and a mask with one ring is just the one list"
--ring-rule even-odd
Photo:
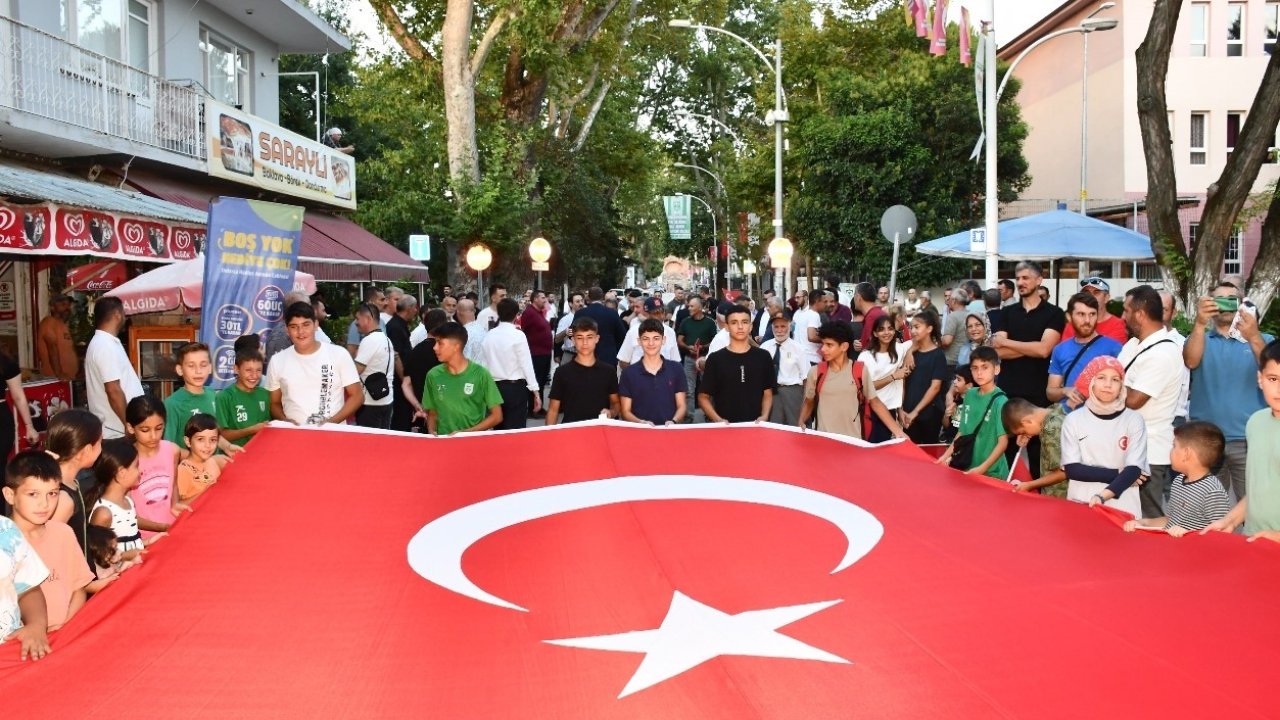
[[(916, 252), (982, 260), (969, 251), (969, 231), (915, 246)], [(1151, 238), (1120, 225), (1071, 213), (1050, 210), (1000, 223), (1001, 260), (1152, 260)]]

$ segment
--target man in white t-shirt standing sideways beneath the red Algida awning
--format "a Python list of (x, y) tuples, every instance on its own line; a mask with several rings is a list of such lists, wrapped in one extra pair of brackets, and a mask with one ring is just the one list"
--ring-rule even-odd
[(93, 304), (93, 338), (84, 351), (84, 392), (88, 411), (102, 420), (102, 437), (124, 437), (124, 409), (142, 395), (142, 380), (129, 364), (118, 337), (124, 327), (124, 304), (104, 297)]

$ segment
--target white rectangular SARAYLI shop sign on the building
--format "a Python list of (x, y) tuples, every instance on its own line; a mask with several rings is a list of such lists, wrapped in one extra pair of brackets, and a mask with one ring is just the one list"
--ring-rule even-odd
[(314, 140), (205, 100), (209, 174), (273, 192), (356, 208), (356, 161)]

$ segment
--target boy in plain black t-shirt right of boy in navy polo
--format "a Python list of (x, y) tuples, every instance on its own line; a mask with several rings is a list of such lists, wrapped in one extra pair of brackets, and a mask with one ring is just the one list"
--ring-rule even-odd
[(751, 347), (751, 311), (735, 305), (724, 316), (728, 347), (707, 356), (698, 406), (712, 423), (763, 423), (773, 407), (773, 359)]

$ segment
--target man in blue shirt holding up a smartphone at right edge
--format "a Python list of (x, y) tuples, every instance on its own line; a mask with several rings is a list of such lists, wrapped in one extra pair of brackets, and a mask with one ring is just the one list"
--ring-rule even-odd
[(1183, 346), (1183, 361), (1192, 372), (1192, 420), (1207, 420), (1226, 437), (1226, 456), (1217, 478), (1226, 492), (1244, 497), (1248, 445), (1244, 425), (1266, 406), (1254, 377), (1258, 356), (1272, 337), (1258, 329), (1257, 307), (1242, 302), (1240, 290), (1229, 282), (1201, 297), (1196, 327)]

